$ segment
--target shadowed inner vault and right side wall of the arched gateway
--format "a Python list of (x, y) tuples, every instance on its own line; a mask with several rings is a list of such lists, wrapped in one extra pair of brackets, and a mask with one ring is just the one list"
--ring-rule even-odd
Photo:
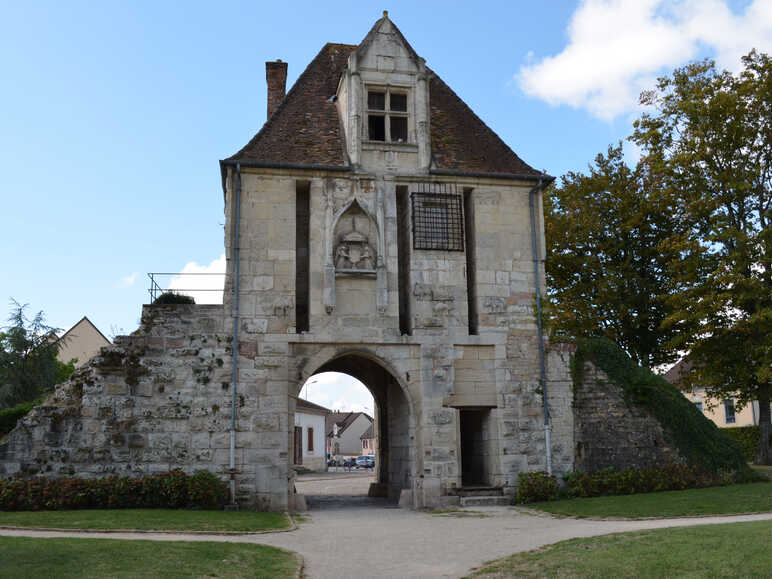
[[(360, 353), (335, 357), (311, 371), (308, 378), (323, 372), (340, 372), (352, 376), (362, 382), (372, 394), (375, 407), (375, 473), (367, 495), (369, 498), (396, 503), (403, 489), (412, 488), (415, 475), (414, 417), (402, 385), (382, 361)], [(304, 383), (305, 380), (298, 384), (298, 393)], [(290, 424), (294, 422), (291, 420)], [(294, 432), (290, 434), (294, 447), (298, 437)], [(361, 487), (362, 483), (356, 484)], [(333, 485), (330, 485), (330, 488), (333, 488)], [(361, 505), (367, 501), (355, 503)]]

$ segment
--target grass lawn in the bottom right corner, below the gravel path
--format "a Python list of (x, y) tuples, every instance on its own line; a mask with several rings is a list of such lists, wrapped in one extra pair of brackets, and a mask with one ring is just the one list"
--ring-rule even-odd
[(492, 561), (474, 577), (767, 577), (772, 521), (572, 539)]

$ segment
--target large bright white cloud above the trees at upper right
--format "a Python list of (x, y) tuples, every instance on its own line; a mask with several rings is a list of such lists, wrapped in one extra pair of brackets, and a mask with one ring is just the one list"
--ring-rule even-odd
[(772, 2), (754, 0), (734, 13), (725, 0), (585, 0), (567, 35), (559, 54), (527, 55), (516, 76), (520, 88), (611, 120), (637, 109), (638, 95), (657, 76), (701, 50), (733, 71), (751, 48), (772, 51)]

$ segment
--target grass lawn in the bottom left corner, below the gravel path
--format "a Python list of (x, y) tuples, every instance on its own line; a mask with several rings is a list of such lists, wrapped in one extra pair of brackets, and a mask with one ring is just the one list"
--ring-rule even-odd
[(0, 577), (288, 577), (298, 559), (236, 543), (0, 537)]

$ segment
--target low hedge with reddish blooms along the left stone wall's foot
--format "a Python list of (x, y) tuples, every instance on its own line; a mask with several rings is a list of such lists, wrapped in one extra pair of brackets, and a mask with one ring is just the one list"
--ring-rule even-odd
[(175, 469), (140, 478), (0, 479), (0, 511), (219, 509), (227, 496), (227, 485), (206, 471), (187, 475)]

